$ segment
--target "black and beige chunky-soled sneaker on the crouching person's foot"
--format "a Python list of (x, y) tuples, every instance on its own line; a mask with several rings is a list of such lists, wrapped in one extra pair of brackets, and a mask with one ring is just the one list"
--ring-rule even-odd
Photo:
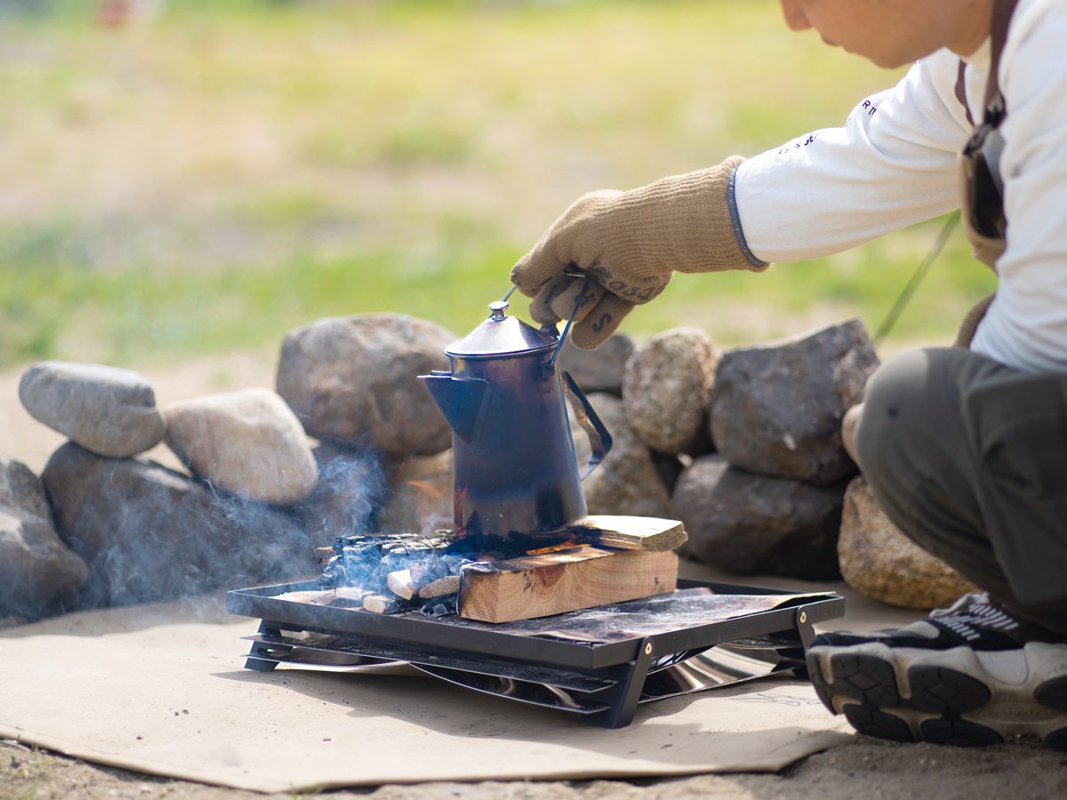
[(899, 630), (816, 636), (808, 672), (869, 736), (966, 747), (1023, 734), (1067, 750), (1067, 639), (987, 594)]

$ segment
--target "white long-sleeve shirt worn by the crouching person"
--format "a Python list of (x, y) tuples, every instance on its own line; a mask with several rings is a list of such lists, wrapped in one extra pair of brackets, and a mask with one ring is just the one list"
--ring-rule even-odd
[[(751, 254), (825, 256), (957, 208), (957, 159), (972, 131), (955, 94), (958, 65), (940, 50), (860, 102), (844, 127), (744, 162), (734, 202)], [(988, 68), (987, 42), (965, 76), (978, 122)], [(1067, 371), (1067, 2), (1020, 0), (999, 78), (1007, 249), (971, 349), (1031, 372)]]

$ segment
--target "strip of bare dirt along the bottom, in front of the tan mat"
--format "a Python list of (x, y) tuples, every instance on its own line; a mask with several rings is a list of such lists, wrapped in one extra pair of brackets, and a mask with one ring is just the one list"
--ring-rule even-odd
[[(1044, 800), (1067, 797), (1067, 757), (1015, 742), (964, 750), (860, 737), (774, 774), (666, 781), (424, 783), (323, 793), (373, 800)], [(0, 800), (258, 800), (264, 795), (99, 767), (0, 742)], [(275, 798), (296, 795), (271, 795)]]

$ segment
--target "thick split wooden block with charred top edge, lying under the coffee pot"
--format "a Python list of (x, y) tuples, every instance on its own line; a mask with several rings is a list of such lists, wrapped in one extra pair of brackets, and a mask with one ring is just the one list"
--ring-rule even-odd
[(460, 573), (460, 617), (511, 622), (673, 592), (673, 550), (571, 550), (468, 564)]

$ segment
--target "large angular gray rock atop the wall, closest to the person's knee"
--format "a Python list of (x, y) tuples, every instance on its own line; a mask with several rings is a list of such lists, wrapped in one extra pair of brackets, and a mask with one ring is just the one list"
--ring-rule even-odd
[(853, 475), (841, 419), (877, 366), (858, 319), (726, 353), (712, 396), (717, 451), (749, 471), (819, 485)]

